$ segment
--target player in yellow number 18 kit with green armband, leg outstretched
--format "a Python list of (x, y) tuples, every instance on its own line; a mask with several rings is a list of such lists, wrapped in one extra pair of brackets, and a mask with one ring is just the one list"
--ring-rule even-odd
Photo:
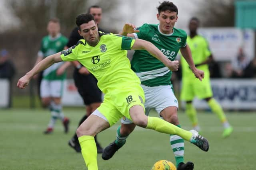
[[(20, 78), (17, 86), (25, 88), (34, 74), (60, 61), (79, 61), (97, 78), (98, 87), (105, 94), (104, 101), (76, 131), (88, 170), (98, 170), (94, 136), (114, 125), (123, 116), (140, 127), (179, 135), (200, 149), (208, 151), (208, 141), (198, 132), (186, 131), (158, 117), (145, 115), (144, 92), (140, 79), (130, 68), (126, 50), (144, 49), (172, 71), (178, 70), (178, 61), (170, 61), (148, 41), (98, 32), (90, 14), (78, 16), (76, 25), (79, 27), (78, 33), (84, 39), (67, 50), (46, 57)], [(197, 76), (201, 80), (204, 77), (203, 74)]]

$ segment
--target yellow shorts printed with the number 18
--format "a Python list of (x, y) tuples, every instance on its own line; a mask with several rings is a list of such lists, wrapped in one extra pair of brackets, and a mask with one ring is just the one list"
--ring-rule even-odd
[(131, 120), (129, 110), (134, 105), (142, 106), (145, 112), (144, 103), (144, 91), (138, 84), (136, 88), (117, 89), (105, 94), (98, 111), (106, 117), (108, 123), (112, 126), (123, 116)]

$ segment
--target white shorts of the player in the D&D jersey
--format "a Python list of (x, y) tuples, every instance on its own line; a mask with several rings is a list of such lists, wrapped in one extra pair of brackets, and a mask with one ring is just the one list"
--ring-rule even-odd
[[(141, 86), (145, 93), (144, 106), (146, 110), (146, 115), (149, 114), (151, 109), (156, 109), (159, 117), (161, 117), (160, 112), (166, 107), (175, 106), (179, 108), (178, 100), (174, 96), (174, 92), (172, 90), (172, 85), (149, 87), (141, 84)], [(132, 121), (126, 119), (126, 117), (123, 117), (121, 122), (123, 124), (132, 123)]]

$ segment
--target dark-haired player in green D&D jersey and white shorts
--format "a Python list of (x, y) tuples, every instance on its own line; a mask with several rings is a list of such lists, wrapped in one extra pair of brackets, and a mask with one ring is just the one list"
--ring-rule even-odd
[[(203, 75), (204, 72), (194, 66), (190, 48), (186, 43), (187, 34), (184, 30), (174, 27), (178, 19), (177, 15), (178, 8), (172, 2), (164, 1), (158, 6), (159, 24), (145, 23), (136, 31), (133, 30), (134, 25), (126, 24), (120, 34), (150, 41), (170, 61), (175, 60), (180, 50), (192, 68), (193, 76), (200, 79), (198, 75)], [(146, 115), (149, 114), (150, 109), (156, 109), (159, 117), (180, 127), (177, 115), (178, 100), (174, 96), (170, 82), (172, 71), (144, 50), (135, 51), (131, 65), (132, 70), (140, 78), (145, 93)], [(135, 124), (125, 117), (121, 122), (122, 125), (117, 129), (116, 140), (103, 150), (102, 158), (104, 160), (110, 159), (124, 145), (126, 138), (135, 128)], [(177, 169), (192, 170), (194, 168), (192, 162), (184, 163), (184, 139), (170, 134), (170, 145), (174, 152)]]

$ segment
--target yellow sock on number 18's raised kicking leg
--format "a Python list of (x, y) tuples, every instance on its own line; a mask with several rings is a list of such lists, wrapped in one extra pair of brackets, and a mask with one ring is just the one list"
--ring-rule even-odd
[(192, 133), (190, 131), (181, 129), (180, 127), (177, 127), (176, 125), (173, 125), (172, 123), (169, 123), (158, 117), (149, 116), (148, 125), (146, 129), (152, 129), (152, 130), (155, 130), (161, 133), (167, 133), (170, 135), (178, 135), (183, 139), (185, 139), (186, 141), (190, 141), (192, 137)]

